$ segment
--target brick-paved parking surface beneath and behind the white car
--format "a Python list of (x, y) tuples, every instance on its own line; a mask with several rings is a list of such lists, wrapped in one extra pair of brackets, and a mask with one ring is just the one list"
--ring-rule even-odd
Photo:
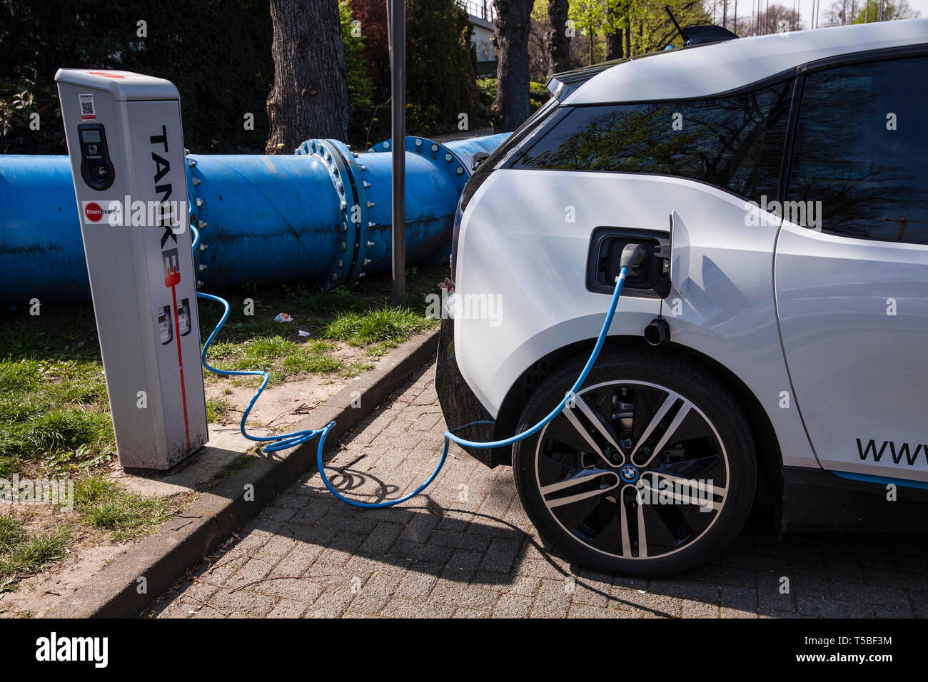
[[(329, 460), (342, 492), (380, 501), (431, 472), (445, 430), (433, 377), (434, 366), (424, 367), (342, 439)], [(928, 616), (923, 537), (789, 534), (780, 542), (749, 522), (719, 560), (684, 577), (612, 578), (543, 550), (509, 467), (488, 470), (457, 446), (451, 453), (426, 494), (396, 508), (344, 505), (307, 472), (147, 614)]]

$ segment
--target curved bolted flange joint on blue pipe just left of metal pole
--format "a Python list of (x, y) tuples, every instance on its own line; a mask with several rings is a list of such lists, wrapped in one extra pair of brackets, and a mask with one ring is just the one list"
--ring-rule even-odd
[[(354, 218), (359, 212), (363, 212), (362, 220), (364, 225), (367, 225), (367, 202), (357, 197), (354, 177), (342, 158), (342, 152), (329, 144), (330, 142), (331, 140), (309, 139), (296, 148), (297, 154), (314, 156), (322, 162), (329, 171), (332, 187), (335, 187), (339, 199), (336, 255), (322, 283), (323, 289), (327, 290), (342, 284), (351, 284), (358, 248), (358, 229)], [(359, 212), (354, 209), (355, 206), (359, 207)]]

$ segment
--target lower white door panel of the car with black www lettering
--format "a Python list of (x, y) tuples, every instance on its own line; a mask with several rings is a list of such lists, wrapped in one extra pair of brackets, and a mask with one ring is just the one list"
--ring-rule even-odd
[(793, 390), (821, 465), (928, 482), (928, 246), (784, 223), (776, 284)]

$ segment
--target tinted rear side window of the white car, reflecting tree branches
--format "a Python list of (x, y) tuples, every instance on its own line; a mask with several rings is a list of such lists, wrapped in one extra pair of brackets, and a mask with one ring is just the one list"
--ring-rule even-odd
[(793, 82), (731, 97), (576, 107), (516, 168), (678, 175), (778, 196)]

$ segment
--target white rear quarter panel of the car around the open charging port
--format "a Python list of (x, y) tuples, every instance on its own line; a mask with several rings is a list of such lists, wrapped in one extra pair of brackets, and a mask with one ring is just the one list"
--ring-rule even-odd
[[(573, 223), (566, 220), (570, 207)], [(663, 305), (672, 341), (721, 362), (754, 392), (778, 434), (785, 465), (818, 467), (780, 345), (773, 286), (779, 221), (684, 178), (495, 171), (464, 212), (456, 295), (499, 294), (502, 315), (456, 318), (461, 376), (496, 418), (509, 388), (535, 361), (595, 339), (610, 296), (586, 290), (592, 231), (611, 225), (666, 232), (668, 207), (677, 212), (676, 290)], [(746, 215), (760, 226), (748, 226)], [(680, 315), (673, 315), (675, 299)], [(610, 335), (640, 337), (661, 310), (658, 299), (624, 296)]]

